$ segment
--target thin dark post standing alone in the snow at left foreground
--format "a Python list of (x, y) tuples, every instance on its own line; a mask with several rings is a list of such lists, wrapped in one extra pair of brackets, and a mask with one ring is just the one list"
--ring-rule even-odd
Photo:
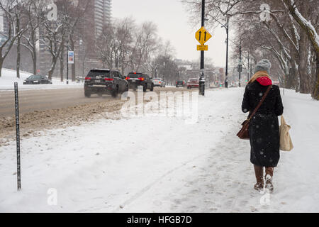
[(18, 191), (21, 190), (21, 158), (20, 158), (20, 118), (19, 118), (19, 98), (18, 83), (14, 83), (14, 96), (16, 101), (16, 164)]

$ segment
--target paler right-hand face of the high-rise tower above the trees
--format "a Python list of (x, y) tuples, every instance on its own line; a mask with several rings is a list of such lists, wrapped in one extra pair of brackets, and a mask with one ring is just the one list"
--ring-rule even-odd
[(96, 36), (99, 36), (103, 31), (103, 26), (111, 23), (111, 0), (95, 0), (94, 22)]

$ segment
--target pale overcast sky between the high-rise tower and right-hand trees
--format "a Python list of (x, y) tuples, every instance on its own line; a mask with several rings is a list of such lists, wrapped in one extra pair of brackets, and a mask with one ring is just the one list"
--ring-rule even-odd
[[(158, 26), (158, 35), (164, 40), (171, 40), (177, 58), (197, 60), (200, 57), (200, 52), (196, 50), (199, 43), (195, 32), (201, 25), (193, 28), (180, 0), (112, 0), (112, 16), (133, 16), (137, 23), (153, 21)], [(213, 60), (215, 66), (225, 67), (225, 28), (218, 26), (216, 31), (209, 32), (213, 37), (206, 43), (206, 56)]]

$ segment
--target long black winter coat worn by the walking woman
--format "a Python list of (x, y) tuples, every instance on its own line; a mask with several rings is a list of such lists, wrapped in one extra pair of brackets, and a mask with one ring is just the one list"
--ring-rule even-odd
[[(263, 86), (254, 81), (247, 84), (242, 101), (242, 111), (250, 114), (268, 86)], [(250, 121), (250, 162), (262, 167), (276, 167), (279, 162), (279, 122), (278, 116), (284, 112), (280, 90), (276, 85), (272, 85), (262, 106)], [(249, 116), (250, 117), (250, 116)]]

